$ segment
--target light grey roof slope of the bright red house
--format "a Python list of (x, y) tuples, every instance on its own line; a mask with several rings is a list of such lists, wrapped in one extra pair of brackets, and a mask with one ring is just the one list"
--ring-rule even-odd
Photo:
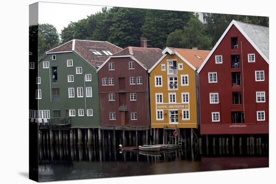
[(269, 59), (269, 28), (240, 21), (236, 21), (236, 23)]

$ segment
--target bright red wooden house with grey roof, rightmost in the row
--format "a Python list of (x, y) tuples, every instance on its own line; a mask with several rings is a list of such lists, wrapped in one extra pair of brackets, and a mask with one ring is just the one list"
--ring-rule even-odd
[(198, 70), (201, 134), (268, 133), (268, 27), (233, 20)]

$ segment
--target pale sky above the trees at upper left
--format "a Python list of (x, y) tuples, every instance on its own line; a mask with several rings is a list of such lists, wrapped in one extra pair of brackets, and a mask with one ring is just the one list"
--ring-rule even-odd
[(49, 23), (58, 33), (71, 21), (78, 21), (90, 14), (101, 11), (104, 6), (66, 3), (39, 2), (39, 23)]

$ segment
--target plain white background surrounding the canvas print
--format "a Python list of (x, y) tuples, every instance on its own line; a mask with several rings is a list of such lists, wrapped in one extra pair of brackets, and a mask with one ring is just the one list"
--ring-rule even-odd
[[(45, 0), (47, 1), (47, 0)], [(275, 5), (273, 0), (51, 0), (124, 7), (269, 16), (269, 168), (205, 171), (64, 181), (63, 183), (273, 183), (275, 182)], [(29, 4), (35, 0), (3, 0), (0, 5), (0, 183), (34, 183), (28, 179), (28, 26)], [(70, 13), (70, 12), (69, 12)], [(66, 16), (66, 15), (65, 15)], [(58, 17), (57, 17), (58, 18)], [(132, 168), (135, 169), (135, 168)], [(274, 180), (274, 181), (273, 181)]]

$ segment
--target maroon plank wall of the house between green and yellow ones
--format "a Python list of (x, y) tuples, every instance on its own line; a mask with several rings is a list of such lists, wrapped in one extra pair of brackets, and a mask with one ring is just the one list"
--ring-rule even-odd
[[(130, 57), (110, 58), (98, 72), (101, 126), (125, 126), (121, 124), (119, 111), (119, 77), (125, 77), (125, 92), (123, 92), (125, 98), (123, 100), (126, 101), (128, 125), (149, 127), (148, 72), (137, 62), (134, 62), (135, 69), (128, 69), (130, 60), (132, 60)], [(108, 70), (109, 62), (114, 62), (115, 70)], [(143, 84), (130, 85), (130, 76), (142, 76)], [(102, 86), (103, 77), (114, 77), (114, 85)], [(130, 92), (136, 92), (136, 101), (130, 101)], [(109, 93), (115, 93), (115, 101), (108, 101)], [(116, 112), (116, 120), (109, 120), (109, 112)], [(131, 112), (137, 112), (137, 120), (130, 119)]]

